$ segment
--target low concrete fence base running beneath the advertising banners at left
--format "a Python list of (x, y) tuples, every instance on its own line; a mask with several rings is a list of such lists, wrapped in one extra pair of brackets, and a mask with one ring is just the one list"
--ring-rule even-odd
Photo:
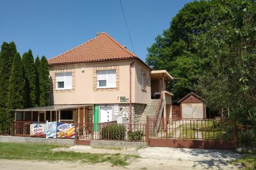
[(22, 137), (22, 136), (0, 136), (0, 142), (16, 142), (16, 143), (50, 143), (60, 144), (72, 147), (75, 145), (74, 139), (53, 139), (40, 137)]

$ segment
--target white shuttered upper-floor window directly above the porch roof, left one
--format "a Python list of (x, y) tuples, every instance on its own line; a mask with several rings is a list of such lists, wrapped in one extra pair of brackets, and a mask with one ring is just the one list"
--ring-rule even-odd
[(57, 90), (72, 89), (72, 72), (56, 73), (56, 89)]

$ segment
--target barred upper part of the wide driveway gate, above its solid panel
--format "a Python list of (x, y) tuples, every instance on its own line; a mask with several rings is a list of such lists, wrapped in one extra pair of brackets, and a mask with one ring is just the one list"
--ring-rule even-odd
[[(150, 137), (180, 138), (180, 139), (233, 139), (234, 123), (231, 118), (222, 119), (193, 119), (175, 118), (161, 119), (161, 125), (156, 131), (156, 119), (149, 120)], [(157, 132), (157, 133), (156, 133)]]

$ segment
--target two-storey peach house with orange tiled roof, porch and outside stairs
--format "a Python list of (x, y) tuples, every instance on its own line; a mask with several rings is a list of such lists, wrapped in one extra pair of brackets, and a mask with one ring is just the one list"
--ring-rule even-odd
[(48, 63), (50, 106), (17, 109), (16, 120), (104, 123), (127, 117), (127, 123), (145, 123), (146, 115), (172, 115), (172, 93), (165, 84), (173, 77), (152, 70), (107, 33)]

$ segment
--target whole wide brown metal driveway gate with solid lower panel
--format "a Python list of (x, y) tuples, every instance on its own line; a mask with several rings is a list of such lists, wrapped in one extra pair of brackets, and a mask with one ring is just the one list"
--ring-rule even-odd
[(147, 117), (147, 144), (151, 147), (233, 150), (237, 146), (236, 120), (157, 119)]

